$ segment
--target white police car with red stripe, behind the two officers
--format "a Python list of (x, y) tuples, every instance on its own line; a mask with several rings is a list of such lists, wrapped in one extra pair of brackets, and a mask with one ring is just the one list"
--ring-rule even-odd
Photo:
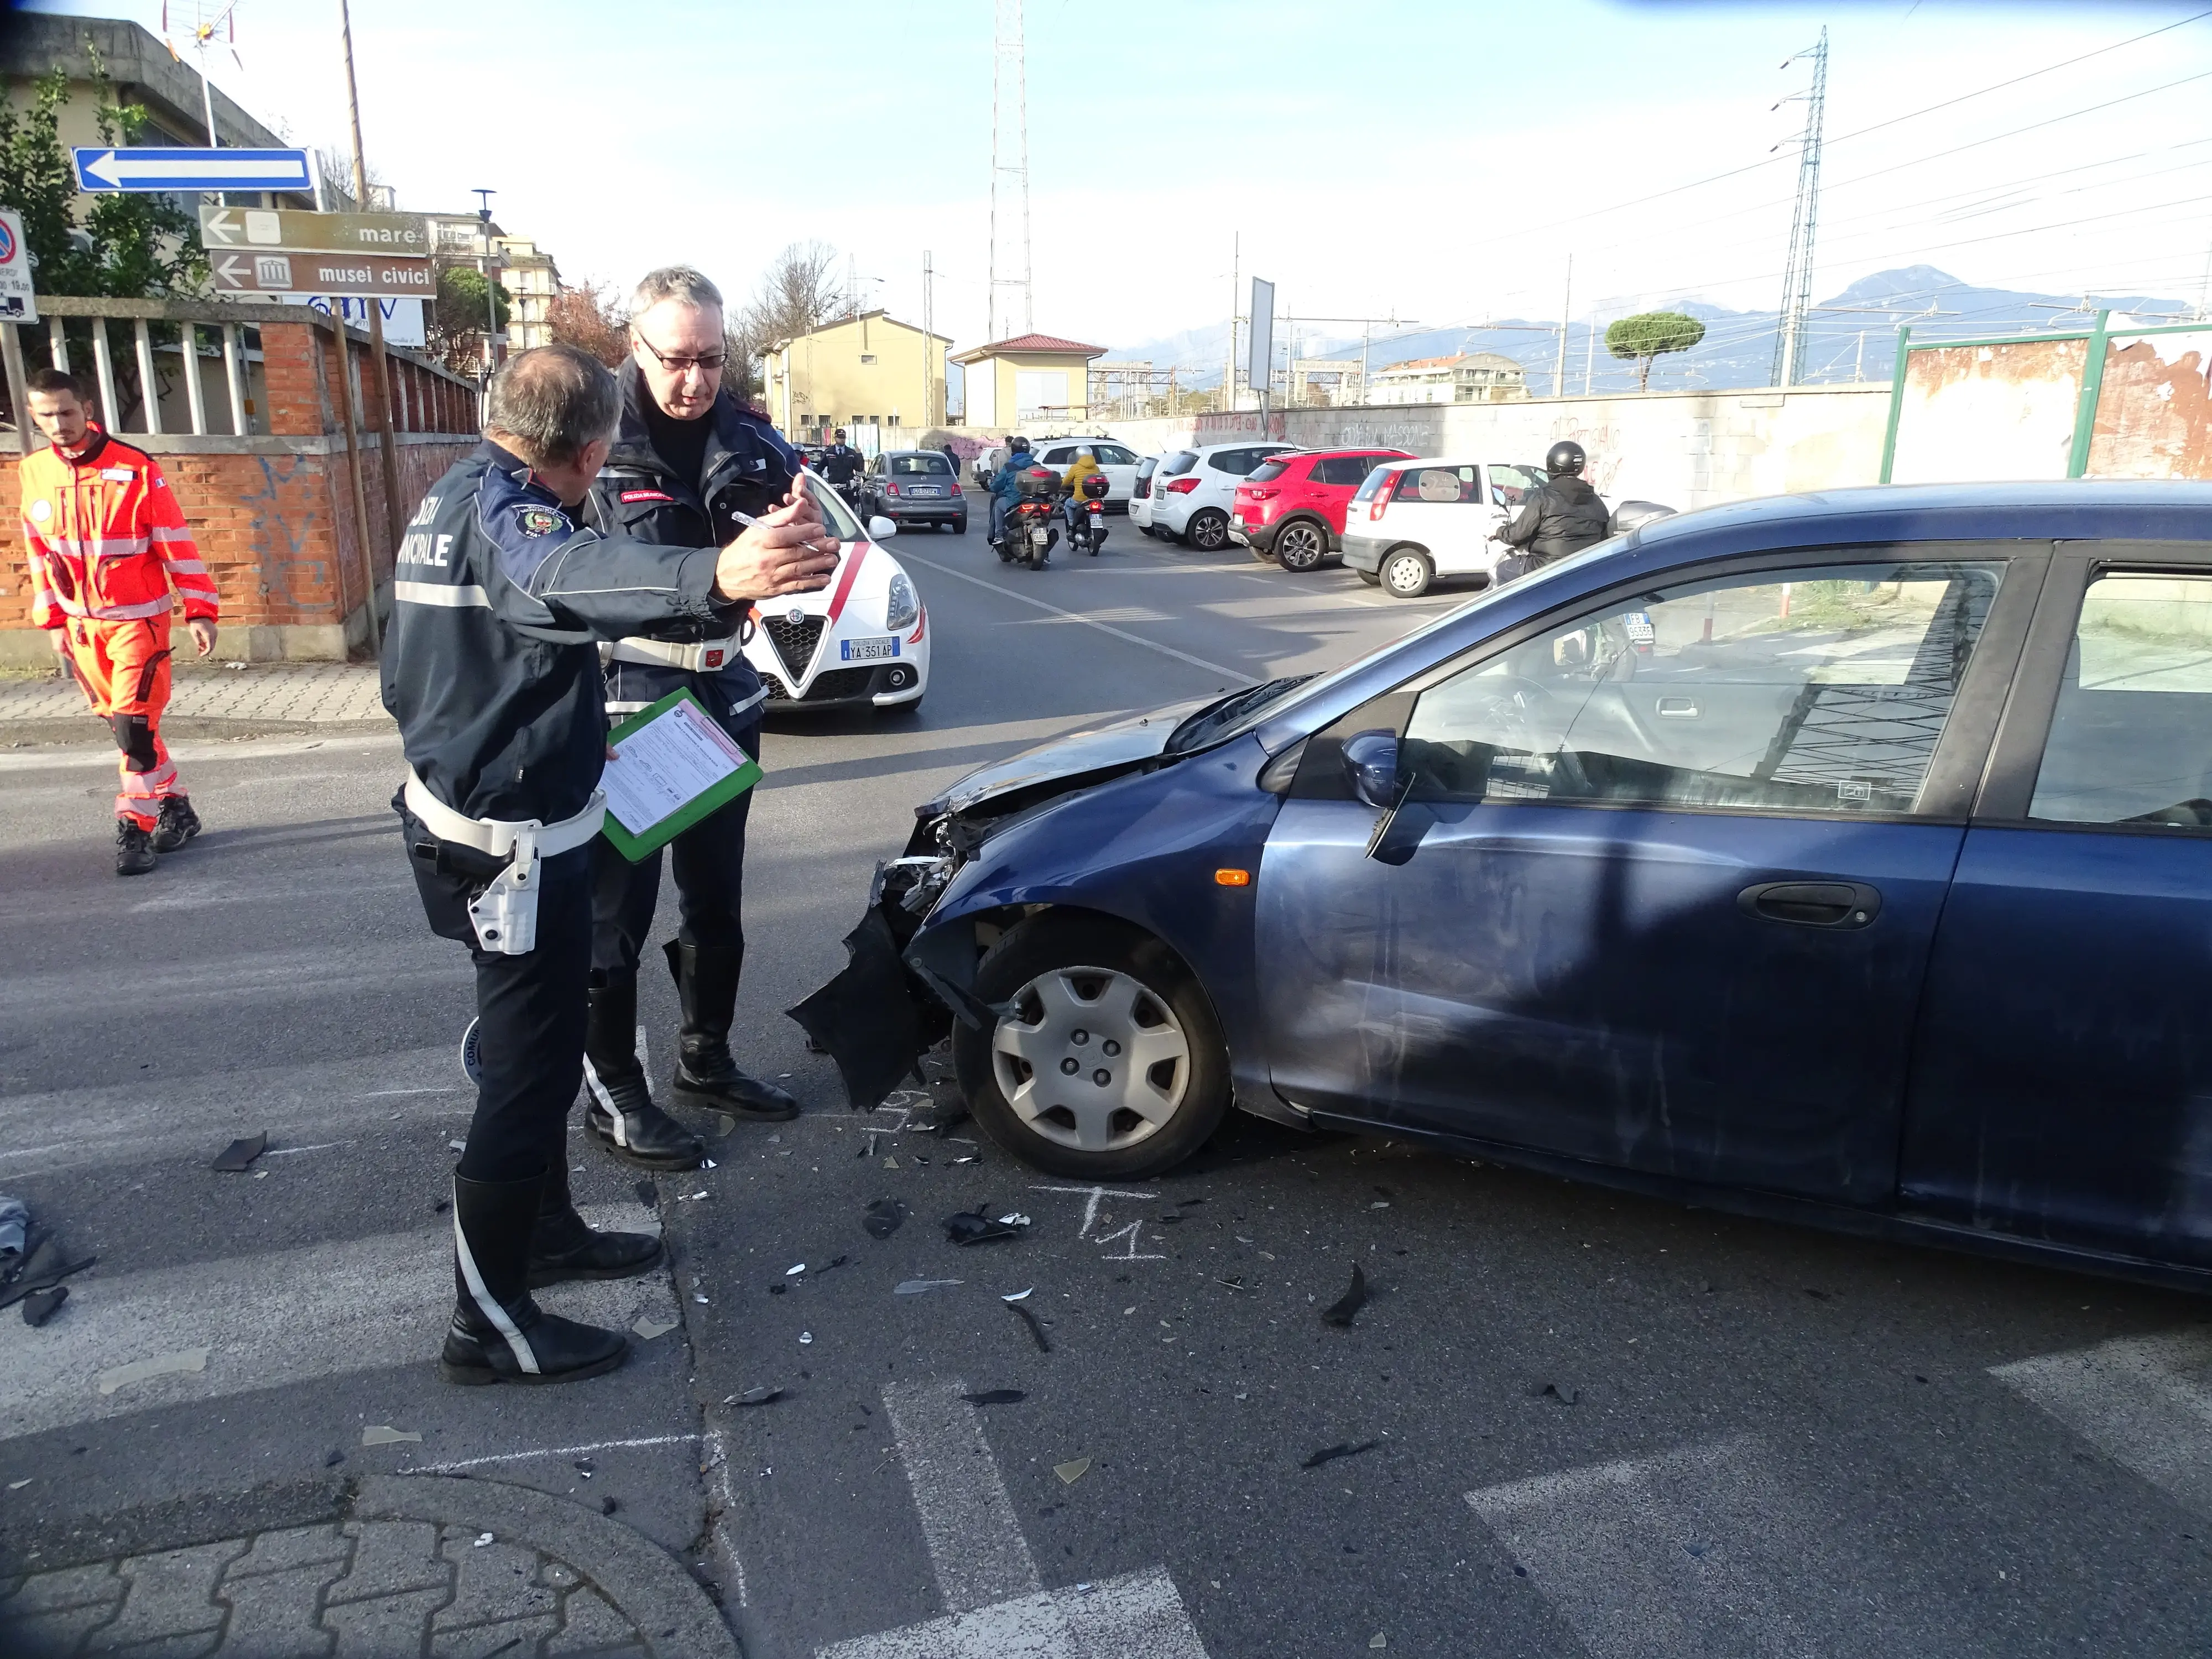
[(830, 586), (752, 608), (745, 661), (761, 675), (770, 710), (920, 708), (929, 690), (929, 611), (883, 546), (898, 529), (885, 518), (863, 526), (834, 489), (816, 484), (814, 498), (845, 553)]

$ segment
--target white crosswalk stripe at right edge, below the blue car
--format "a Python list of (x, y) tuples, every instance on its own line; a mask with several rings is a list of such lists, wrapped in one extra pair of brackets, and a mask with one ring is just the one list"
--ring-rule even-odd
[(2121, 1336), (1993, 1365), (1991, 1376), (2112, 1462), (2212, 1513), (2212, 1334)]

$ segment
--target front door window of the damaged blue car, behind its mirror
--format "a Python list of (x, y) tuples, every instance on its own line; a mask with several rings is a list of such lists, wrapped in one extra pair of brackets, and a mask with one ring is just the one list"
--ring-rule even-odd
[(1838, 562), (1608, 602), (1425, 690), (1413, 796), (1911, 812), (2002, 573)]

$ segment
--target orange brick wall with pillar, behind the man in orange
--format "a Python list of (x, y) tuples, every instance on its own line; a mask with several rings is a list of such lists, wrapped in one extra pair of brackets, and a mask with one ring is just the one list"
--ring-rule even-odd
[[(181, 438), (126, 431), (148, 449), (192, 524), (221, 595), (226, 659), (343, 659), (367, 641), (367, 575), (354, 518), (352, 456), (334, 403), (336, 338), (312, 325), (261, 330), (268, 385), (268, 436)], [(358, 352), (358, 369), (367, 354)], [(447, 387), (414, 365), (411, 407), (473, 416), (467, 389)], [(440, 396), (416, 396), (434, 383)], [(367, 387), (374, 396), (374, 376)], [(442, 396), (458, 392), (460, 396)], [(398, 434), (398, 524), (387, 522), (376, 436), (361, 429), (363, 487), (376, 582), (392, 580), (398, 526), (429, 487), (476, 447), (473, 434)], [(385, 602), (389, 604), (389, 599)], [(20, 484), (13, 456), (0, 451), (0, 661), (49, 661), (31, 626), (31, 568), (22, 546)]]

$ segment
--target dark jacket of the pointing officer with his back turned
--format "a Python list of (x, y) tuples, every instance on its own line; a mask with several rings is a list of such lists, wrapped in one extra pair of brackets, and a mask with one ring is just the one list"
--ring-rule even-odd
[(385, 708), (416, 776), (471, 818), (557, 823), (606, 765), (599, 639), (712, 628), (717, 549), (580, 526), (493, 442), (407, 526), (385, 635)]

